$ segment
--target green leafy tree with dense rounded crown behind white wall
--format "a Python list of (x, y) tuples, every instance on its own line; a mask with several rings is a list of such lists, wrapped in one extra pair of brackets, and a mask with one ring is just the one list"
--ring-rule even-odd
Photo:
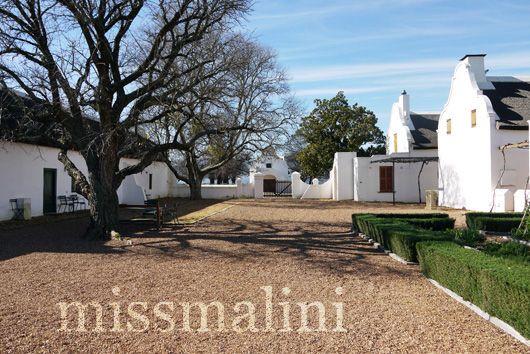
[(297, 154), (303, 176), (326, 176), (335, 152), (357, 151), (361, 156), (384, 153), (384, 134), (366, 107), (357, 103), (350, 106), (343, 92), (330, 100), (317, 99), (315, 105), (297, 131), (306, 143)]

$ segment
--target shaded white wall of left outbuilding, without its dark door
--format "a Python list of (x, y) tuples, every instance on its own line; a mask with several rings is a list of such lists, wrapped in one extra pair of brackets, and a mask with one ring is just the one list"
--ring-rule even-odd
[[(9, 199), (30, 198), (32, 216), (43, 214), (43, 180), (44, 169), (57, 171), (57, 195), (70, 195), (71, 178), (63, 164), (57, 160), (58, 149), (21, 144), (0, 142), (0, 220), (13, 216)], [(86, 163), (78, 152), (68, 152), (69, 158), (87, 175)], [(135, 163), (133, 159), (122, 159), (120, 168)], [(153, 188), (149, 189), (149, 174), (153, 174)], [(143, 191), (158, 198), (169, 195), (172, 175), (165, 164), (154, 162), (146, 170), (137, 175), (128, 176), (118, 189), (120, 203), (143, 204)], [(80, 196), (81, 197), (81, 196)], [(82, 197), (81, 197), (82, 198)], [(88, 203), (87, 203), (88, 205)], [(61, 209), (61, 211), (63, 211)]]

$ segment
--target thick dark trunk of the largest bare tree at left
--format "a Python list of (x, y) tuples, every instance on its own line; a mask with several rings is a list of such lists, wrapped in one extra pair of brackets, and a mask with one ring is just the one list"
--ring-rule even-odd
[(85, 238), (90, 240), (109, 240), (112, 231), (119, 228), (119, 200), (116, 192), (114, 172), (117, 170), (117, 154), (106, 151), (97, 156), (89, 152), (87, 161), (91, 193), (88, 196), (90, 205), (90, 224)]

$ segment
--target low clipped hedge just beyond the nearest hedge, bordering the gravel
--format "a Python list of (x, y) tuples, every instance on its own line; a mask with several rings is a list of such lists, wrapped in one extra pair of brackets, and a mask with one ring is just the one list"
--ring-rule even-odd
[[(429, 223), (433, 227), (454, 225), (454, 220), (448, 218), (420, 220), (423, 220), (424, 223)], [(353, 216), (354, 229), (368, 235), (385, 249), (394, 252), (409, 262), (417, 262), (416, 243), (429, 240), (453, 239), (450, 234), (425, 230), (408, 223), (408, 221), (407, 219), (378, 217), (372, 214), (355, 214)]]

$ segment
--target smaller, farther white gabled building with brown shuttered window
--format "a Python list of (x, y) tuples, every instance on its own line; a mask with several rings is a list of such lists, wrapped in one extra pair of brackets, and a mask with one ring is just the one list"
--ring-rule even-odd
[(438, 113), (412, 112), (403, 91), (392, 105), (387, 154), (354, 160), (354, 199), (424, 202), (425, 191), (438, 186), (438, 118)]

